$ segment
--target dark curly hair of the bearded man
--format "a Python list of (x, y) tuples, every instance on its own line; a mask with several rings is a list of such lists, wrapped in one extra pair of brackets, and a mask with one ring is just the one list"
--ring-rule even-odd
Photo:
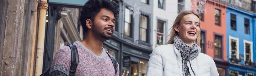
[(80, 11), (80, 22), (84, 32), (87, 33), (86, 20), (94, 21), (95, 16), (100, 12), (101, 8), (107, 8), (114, 13), (114, 18), (119, 18), (119, 5), (112, 0), (88, 0)]

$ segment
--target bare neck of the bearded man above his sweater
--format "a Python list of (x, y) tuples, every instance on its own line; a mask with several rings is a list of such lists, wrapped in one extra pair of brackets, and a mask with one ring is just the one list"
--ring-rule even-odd
[(86, 37), (81, 41), (81, 43), (95, 53), (96, 56), (100, 56), (102, 53), (102, 39), (98, 39), (92, 34), (86, 34)]

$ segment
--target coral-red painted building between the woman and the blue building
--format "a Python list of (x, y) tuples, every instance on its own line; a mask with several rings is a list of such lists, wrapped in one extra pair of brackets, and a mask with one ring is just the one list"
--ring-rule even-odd
[(201, 14), (202, 52), (214, 59), (220, 76), (227, 76), (226, 7), (213, 0), (191, 0), (192, 9)]

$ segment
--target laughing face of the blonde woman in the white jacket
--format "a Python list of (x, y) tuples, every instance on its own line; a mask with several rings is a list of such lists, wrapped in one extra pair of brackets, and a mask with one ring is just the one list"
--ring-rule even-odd
[(180, 25), (175, 26), (175, 30), (179, 32), (179, 37), (184, 43), (190, 44), (196, 40), (200, 32), (199, 21), (196, 15), (187, 14), (181, 19)]

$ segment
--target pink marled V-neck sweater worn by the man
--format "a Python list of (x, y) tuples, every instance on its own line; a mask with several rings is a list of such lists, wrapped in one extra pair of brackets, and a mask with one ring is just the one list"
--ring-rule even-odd
[[(96, 56), (81, 42), (76, 41), (74, 44), (79, 53), (75, 76), (119, 76), (119, 65), (117, 74), (115, 74), (112, 61), (104, 49), (100, 56)], [(51, 76), (69, 76), (70, 61), (71, 50), (69, 46), (63, 46), (56, 52), (49, 74)]]

